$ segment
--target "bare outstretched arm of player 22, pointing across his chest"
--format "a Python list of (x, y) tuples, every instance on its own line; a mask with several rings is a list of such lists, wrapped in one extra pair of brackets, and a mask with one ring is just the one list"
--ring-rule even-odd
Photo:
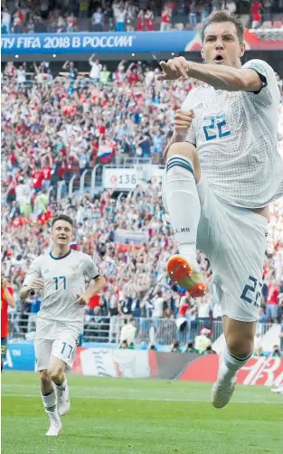
[(259, 91), (262, 80), (256, 71), (237, 69), (231, 66), (202, 64), (187, 61), (184, 57), (160, 61), (163, 73), (158, 80), (176, 80), (180, 77), (202, 80), (215, 89), (227, 91)]

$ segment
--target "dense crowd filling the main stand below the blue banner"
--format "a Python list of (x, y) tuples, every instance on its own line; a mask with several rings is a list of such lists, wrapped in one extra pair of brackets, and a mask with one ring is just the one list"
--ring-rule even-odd
[[(24, 65), (15, 68), (7, 63), (5, 67), (2, 262), (18, 301), (16, 310), (29, 314), (21, 316), (26, 317), (24, 333), (33, 330), (40, 296), (23, 304), (17, 293), (31, 260), (51, 247), (49, 219), (55, 213), (67, 213), (75, 221), (73, 247), (95, 257), (108, 281), (103, 294), (90, 302), (86, 332), (91, 332), (98, 317), (108, 317), (104, 336), (113, 341), (121, 318), (148, 317), (152, 321), (140, 325), (140, 333), (149, 333), (152, 327), (162, 343), (171, 330), (173, 338), (187, 342), (188, 336), (198, 334), (200, 322), (210, 328), (212, 320), (221, 319), (221, 313), (212, 305), (209, 292), (193, 300), (166, 276), (166, 261), (175, 253), (175, 242), (159, 178), (138, 184), (121, 199), (113, 190), (104, 190), (94, 197), (76, 193), (57, 202), (54, 195), (49, 197), (48, 189), (100, 162), (100, 147), (109, 147), (108, 160), (117, 163), (124, 156), (152, 160), (161, 156), (173, 129), (175, 109), (196, 82), (157, 81), (159, 70), (139, 63), (126, 68), (126, 62), (121, 61), (112, 73), (95, 57), (90, 61), (96, 65), (91, 65), (92, 80), (80, 75), (71, 62), (64, 65), (67, 73), (56, 77), (48, 64), (34, 64), (31, 84), (25, 83)], [(282, 92), (279, 78), (278, 85)], [(282, 105), (279, 139), (283, 154)], [(139, 241), (121, 241), (125, 232), (126, 236), (127, 232), (138, 232)], [(210, 264), (201, 252), (198, 259), (209, 283)], [(260, 322), (280, 319), (282, 297), (283, 201), (279, 200), (270, 207)], [(160, 324), (161, 318), (166, 319), (165, 324)]]

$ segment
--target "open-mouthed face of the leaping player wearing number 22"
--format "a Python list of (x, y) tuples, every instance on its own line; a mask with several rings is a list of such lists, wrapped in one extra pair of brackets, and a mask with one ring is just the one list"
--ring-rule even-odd
[(210, 24), (204, 31), (202, 56), (206, 63), (240, 68), (245, 45), (239, 42), (235, 24)]

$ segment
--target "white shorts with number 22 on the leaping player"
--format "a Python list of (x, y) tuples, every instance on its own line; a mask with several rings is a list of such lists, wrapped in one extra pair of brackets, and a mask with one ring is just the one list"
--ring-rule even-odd
[[(211, 294), (222, 315), (243, 322), (258, 319), (268, 220), (223, 202), (202, 175), (197, 249), (212, 267)], [(165, 194), (164, 194), (165, 198)]]

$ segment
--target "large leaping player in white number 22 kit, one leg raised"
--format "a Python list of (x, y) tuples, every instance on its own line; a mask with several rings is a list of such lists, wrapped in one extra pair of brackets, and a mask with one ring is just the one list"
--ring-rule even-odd
[(190, 91), (176, 112), (165, 148), (164, 202), (180, 254), (168, 260), (167, 271), (201, 296), (196, 247), (211, 262), (212, 298), (221, 304), (226, 338), (212, 404), (222, 408), (253, 351), (269, 203), (283, 195), (283, 163), (276, 76), (265, 61), (241, 66), (241, 20), (224, 11), (212, 14), (202, 40), (206, 64), (184, 57), (160, 62), (160, 80), (183, 76), (207, 84)]

